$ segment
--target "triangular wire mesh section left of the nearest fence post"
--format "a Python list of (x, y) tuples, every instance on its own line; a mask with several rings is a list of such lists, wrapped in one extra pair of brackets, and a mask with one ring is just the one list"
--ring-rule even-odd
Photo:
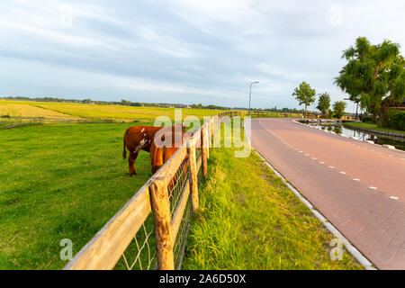
[(122, 253), (116, 270), (150, 270), (156, 266), (156, 240), (153, 215), (150, 213), (130, 245)]

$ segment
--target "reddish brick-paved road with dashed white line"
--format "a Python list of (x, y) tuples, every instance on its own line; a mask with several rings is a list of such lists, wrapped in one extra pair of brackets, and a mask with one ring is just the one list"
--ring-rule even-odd
[(252, 119), (254, 148), (380, 269), (405, 269), (405, 152)]

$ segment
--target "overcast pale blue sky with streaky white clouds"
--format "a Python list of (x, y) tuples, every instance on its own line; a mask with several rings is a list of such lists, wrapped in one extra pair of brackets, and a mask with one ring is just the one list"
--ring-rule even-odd
[[(405, 48), (405, 1), (0, 2), (0, 95), (298, 107), (307, 81), (332, 100), (358, 36)], [(352, 112), (353, 105), (347, 108)]]

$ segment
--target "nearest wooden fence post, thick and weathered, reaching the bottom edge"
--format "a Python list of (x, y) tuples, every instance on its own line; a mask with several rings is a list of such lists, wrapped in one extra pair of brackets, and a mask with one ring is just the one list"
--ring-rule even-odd
[(174, 270), (175, 257), (173, 254), (172, 220), (170, 217), (167, 183), (164, 177), (152, 179), (152, 183), (150, 184), (150, 202), (155, 222), (157, 269)]

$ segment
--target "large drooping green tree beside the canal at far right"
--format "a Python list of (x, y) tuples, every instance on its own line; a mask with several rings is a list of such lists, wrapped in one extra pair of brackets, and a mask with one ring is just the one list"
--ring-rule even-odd
[(365, 37), (343, 51), (347, 65), (342, 68), (335, 84), (349, 94), (350, 100), (373, 114), (383, 126), (387, 112), (405, 97), (405, 59), (400, 45), (384, 40), (372, 45)]

